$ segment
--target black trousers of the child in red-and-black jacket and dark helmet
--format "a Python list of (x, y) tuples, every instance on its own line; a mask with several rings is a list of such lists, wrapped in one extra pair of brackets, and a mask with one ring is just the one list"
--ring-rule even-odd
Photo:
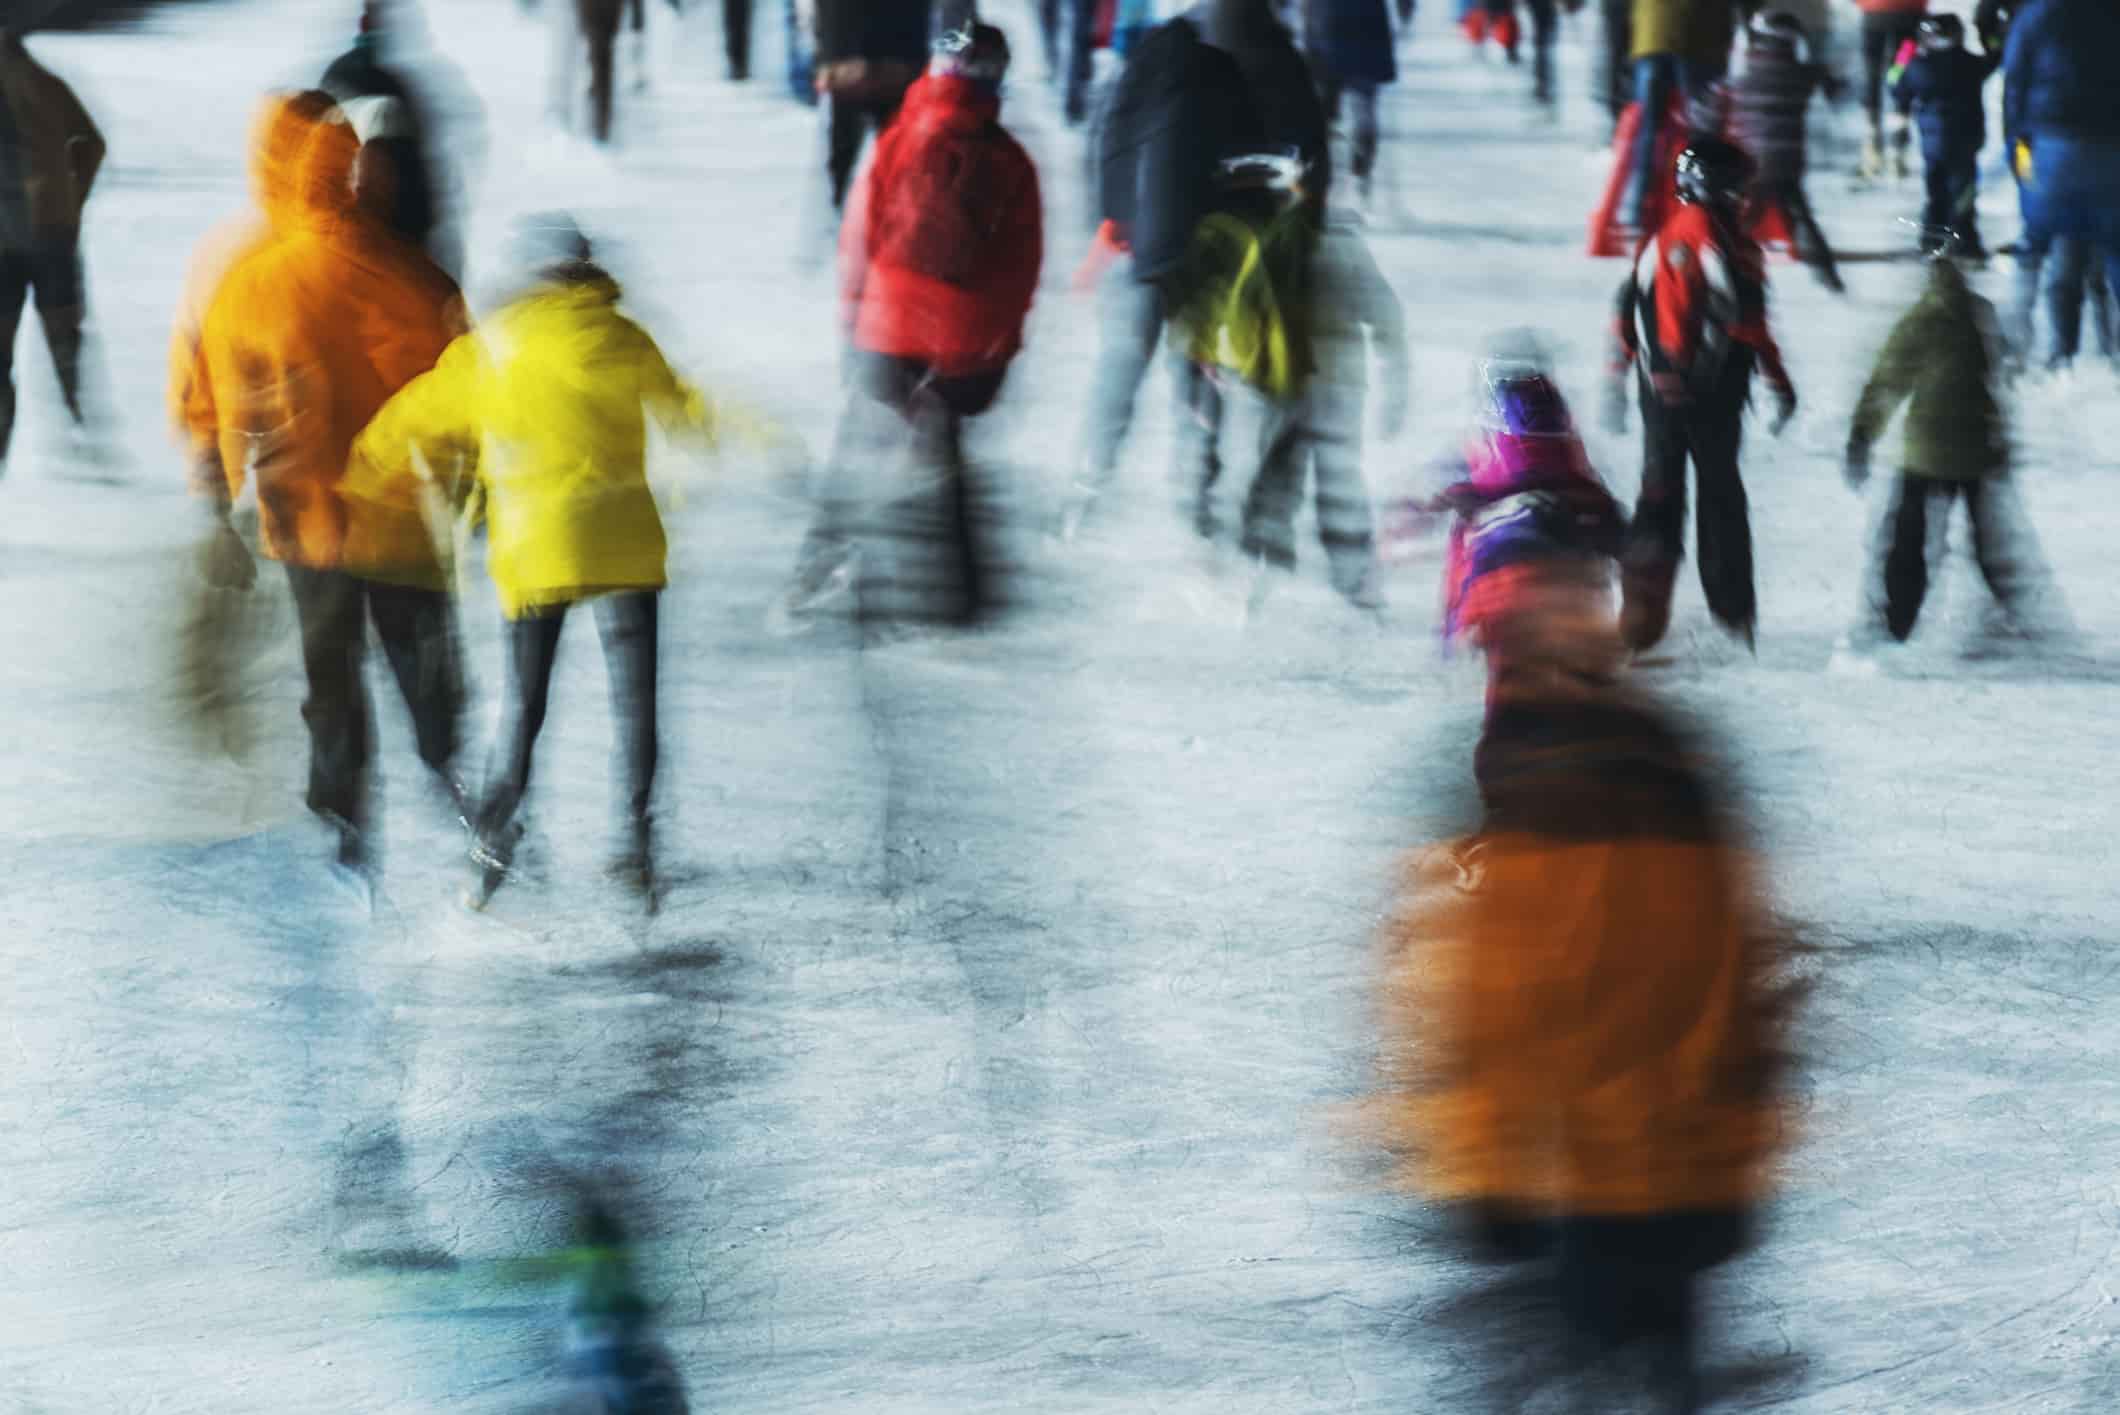
[(1717, 397), (1688, 407), (1664, 407), (1641, 397), (1641, 499), (1620, 564), (1624, 605), (1620, 628), (1635, 649), (1647, 649), (1671, 626), (1671, 592), (1685, 549), (1685, 465), (1698, 486), (1694, 556), (1709, 613), (1724, 626), (1753, 634), (1757, 602), (1751, 583), (1751, 509), (1736, 454), (1745, 429), (1745, 380), (1726, 380)]

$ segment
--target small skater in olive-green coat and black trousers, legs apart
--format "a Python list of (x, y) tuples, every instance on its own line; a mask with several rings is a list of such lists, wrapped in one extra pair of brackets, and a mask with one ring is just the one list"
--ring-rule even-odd
[(1849, 429), (1847, 479), (1861, 490), (1870, 450), (1906, 403), (1906, 443), (1876, 571), (1883, 592), (1876, 617), (1849, 636), (1857, 656), (1885, 636), (1904, 643), (1914, 632), (1929, 588), (1929, 547), (1942, 539), (1957, 499), (1965, 501), (1980, 575), (2003, 613), (2022, 622), (2027, 547), (2012, 545), (2012, 522), (2001, 513), (2010, 473), (2001, 375), (1995, 308), (1972, 291), (1957, 261), (1933, 259), (1929, 282), (1893, 325)]

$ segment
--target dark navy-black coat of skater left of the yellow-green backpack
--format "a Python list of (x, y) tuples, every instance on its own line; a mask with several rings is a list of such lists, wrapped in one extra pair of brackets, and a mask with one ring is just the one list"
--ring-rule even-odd
[(1132, 246), (1136, 280), (1166, 280), (1185, 263), (1194, 229), (1217, 206), (1221, 159), (1264, 142), (1244, 70), (1191, 21), (1141, 40), (1098, 134), (1098, 212)]

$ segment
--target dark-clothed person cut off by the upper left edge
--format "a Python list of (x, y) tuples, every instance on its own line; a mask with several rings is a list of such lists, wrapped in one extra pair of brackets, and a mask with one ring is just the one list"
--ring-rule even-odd
[(66, 83), (0, 25), (0, 462), (15, 433), (15, 331), (36, 297), (51, 367), (74, 426), (81, 409), (81, 212), (104, 136)]

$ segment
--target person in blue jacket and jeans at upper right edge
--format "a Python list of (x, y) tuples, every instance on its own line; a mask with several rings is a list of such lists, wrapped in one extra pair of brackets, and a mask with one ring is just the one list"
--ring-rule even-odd
[[(2031, 0), (2010, 21), (2003, 51), (2003, 144), (2025, 219), (2010, 316), (2018, 359), (2029, 359), (2033, 305), (2046, 252), (2073, 238), (2105, 265), (2120, 295), (2120, 8), (2099, 0)], [(2075, 257), (2075, 259), (2084, 259)], [(2056, 335), (2075, 329), (2056, 280)], [(2073, 354), (2056, 342), (2054, 354)]]

